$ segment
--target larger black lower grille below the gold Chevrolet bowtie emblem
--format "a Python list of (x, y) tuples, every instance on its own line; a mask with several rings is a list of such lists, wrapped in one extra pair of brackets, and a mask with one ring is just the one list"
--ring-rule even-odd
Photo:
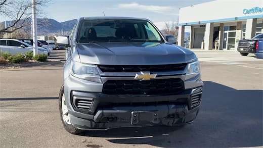
[(108, 80), (103, 85), (104, 94), (167, 94), (184, 91), (180, 78), (154, 80)]

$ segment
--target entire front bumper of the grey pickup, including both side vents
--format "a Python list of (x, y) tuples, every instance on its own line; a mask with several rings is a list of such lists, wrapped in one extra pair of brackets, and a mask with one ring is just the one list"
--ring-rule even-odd
[(185, 80), (185, 90), (174, 94), (116, 95), (102, 93), (101, 83), (69, 76), (64, 80), (64, 93), (71, 124), (82, 130), (100, 130), (192, 123), (201, 104), (200, 77)]

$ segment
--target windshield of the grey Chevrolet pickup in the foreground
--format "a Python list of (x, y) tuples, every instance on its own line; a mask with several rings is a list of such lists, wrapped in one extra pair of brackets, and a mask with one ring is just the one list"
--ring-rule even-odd
[(77, 34), (79, 43), (89, 42), (163, 42), (147, 20), (82, 20)]

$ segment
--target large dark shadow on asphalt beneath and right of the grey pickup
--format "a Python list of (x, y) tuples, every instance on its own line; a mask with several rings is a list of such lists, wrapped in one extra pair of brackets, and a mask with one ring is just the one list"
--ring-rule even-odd
[(262, 146), (263, 90), (236, 90), (204, 82), (199, 115), (182, 127), (116, 128), (87, 131), (81, 136), (106, 137), (119, 144), (159, 147)]

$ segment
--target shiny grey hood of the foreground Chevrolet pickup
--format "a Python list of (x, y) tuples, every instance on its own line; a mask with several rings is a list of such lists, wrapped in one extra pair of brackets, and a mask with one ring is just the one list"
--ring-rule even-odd
[(100, 65), (160, 65), (188, 63), (195, 54), (181, 46), (156, 42), (77, 43), (81, 63)]

